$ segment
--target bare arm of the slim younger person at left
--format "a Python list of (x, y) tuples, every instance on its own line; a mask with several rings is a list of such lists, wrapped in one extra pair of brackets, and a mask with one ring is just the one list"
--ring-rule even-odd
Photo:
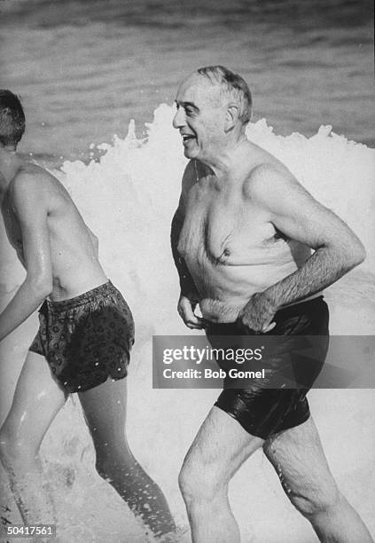
[(19, 327), (52, 290), (47, 209), (38, 179), (24, 175), (13, 184), (12, 201), (20, 223), (27, 275), (0, 315), (0, 341)]

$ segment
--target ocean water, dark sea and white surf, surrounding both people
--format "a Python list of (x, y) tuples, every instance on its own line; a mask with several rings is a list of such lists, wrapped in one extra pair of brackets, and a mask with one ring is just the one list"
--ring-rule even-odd
[[(29, 119), (21, 150), (66, 185), (98, 235), (108, 276), (134, 313), (129, 441), (186, 526), (177, 474), (218, 392), (152, 390), (152, 334), (186, 334), (176, 314), (178, 285), (168, 246), (185, 165), (171, 127), (176, 85), (197, 65), (214, 62), (238, 69), (252, 83), (255, 115), (248, 138), (284, 161), (368, 250), (365, 263), (326, 292), (331, 331), (374, 334), (370, 6), (15, 0), (0, 3), (0, 14), (1, 86), (20, 93)], [(0, 236), (4, 305), (24, 272), (3, 227)], [(33, 316), (1, 345), (1, 420), (36, 326)], [(340, 488), (375, 534), (374, 390), (313, 390), (309, 396)], [(66, 543), (145, 540), (95, 474), (74, 400), (54, 421), (42, 457)], [(20, 522), (5, 481), (2, 489), (12, 522)], [(244, 543), (316, 541), (261, 453), (234, 477), (230, 500)]]

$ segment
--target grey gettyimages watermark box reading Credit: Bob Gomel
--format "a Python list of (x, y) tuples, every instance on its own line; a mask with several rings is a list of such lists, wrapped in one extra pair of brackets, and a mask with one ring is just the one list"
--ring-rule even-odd
[(375, 388), (375, 336), (154, 335), (152, 386)]

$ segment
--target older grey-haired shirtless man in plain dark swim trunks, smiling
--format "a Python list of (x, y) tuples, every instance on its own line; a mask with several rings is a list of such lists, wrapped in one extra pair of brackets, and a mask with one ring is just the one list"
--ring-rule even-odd
[[(322, 290), (363, 261), (362, 243), (246, 139), (251, 94), (242, 77), (200, 68), (181, 84), (176, 107), (174, 127), (190, 159), (171, 232), (184, 323), (205, 328), (208, 339), (327, 335)], [(305, 395), (224, 388), (180, 473), (194, 543), (239, 541), (228, 484), (260, 447), (321, 541), (372, 541), (332, 478)]]

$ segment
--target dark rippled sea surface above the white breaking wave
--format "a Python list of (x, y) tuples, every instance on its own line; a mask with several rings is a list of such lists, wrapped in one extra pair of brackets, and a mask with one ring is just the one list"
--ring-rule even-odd
[(311, 136), (321, 124), (375, 145), (373, 8), (367, 0), (0, 0), (0, 86), (20, 94), (20, 150), (59, 163), (142, 135), (178, 83), (232, 67), (254, 120)]

